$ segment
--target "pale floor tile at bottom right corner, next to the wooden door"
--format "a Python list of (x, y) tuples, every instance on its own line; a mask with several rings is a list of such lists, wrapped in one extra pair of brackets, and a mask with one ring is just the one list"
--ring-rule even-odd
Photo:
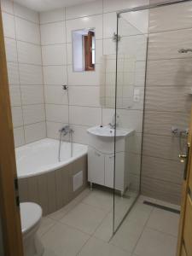
[(138, 256), (175, 256), (177, 238), (146, 228), (137, 243)]

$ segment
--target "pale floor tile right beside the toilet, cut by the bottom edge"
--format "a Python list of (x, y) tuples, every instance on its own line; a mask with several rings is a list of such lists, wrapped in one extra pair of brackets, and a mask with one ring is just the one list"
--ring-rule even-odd
[(67, 225), (55, 224), (41, 240), (46, 250), (55, 256), (76, 256), (89, 237)]

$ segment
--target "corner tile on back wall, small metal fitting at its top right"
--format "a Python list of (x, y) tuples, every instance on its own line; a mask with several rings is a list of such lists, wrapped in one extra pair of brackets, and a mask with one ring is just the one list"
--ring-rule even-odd
[(67, 91), (62, 86), (44, 86), (45, 102), (48, 104), (67, 105)]

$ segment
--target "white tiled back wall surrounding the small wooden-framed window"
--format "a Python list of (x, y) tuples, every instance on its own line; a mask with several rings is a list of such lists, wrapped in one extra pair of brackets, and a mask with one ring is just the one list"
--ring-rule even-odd
[[(48, 137), (58, 137), (69, 122), (74, 142), (86, 144), (90, 126), (112, 120), (113, 109), (100, 103), (102, 55), (115, 55), (116, 10), (141, 3), (148, 1), (100, 0), (40, 14)], [(90, 27), (96, 30), (96, 72), (73, 73), (72, 32)], [(62, 84), (69, 86), (69, 106)], [(142, 120), (136, 122), (133, 113), (119, 110), (119, 116), (121, 126), (141, 130)]]

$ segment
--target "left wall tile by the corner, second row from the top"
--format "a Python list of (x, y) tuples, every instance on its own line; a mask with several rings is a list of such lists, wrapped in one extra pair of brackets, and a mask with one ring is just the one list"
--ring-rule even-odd
[(15, 18), (16, 38), (32, 44), (40, 44), (40, 32), (38, 24), (27, 20)]

